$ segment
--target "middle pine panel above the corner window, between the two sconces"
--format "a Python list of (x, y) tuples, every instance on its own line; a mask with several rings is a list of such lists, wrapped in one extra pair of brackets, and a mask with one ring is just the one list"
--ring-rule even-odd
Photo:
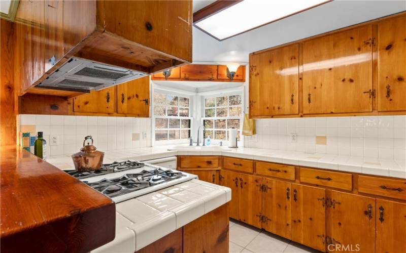
[(181, 66), (181, 78), (183, 80), (215, 80), (217, 77), (217, 65), (184, 65)]

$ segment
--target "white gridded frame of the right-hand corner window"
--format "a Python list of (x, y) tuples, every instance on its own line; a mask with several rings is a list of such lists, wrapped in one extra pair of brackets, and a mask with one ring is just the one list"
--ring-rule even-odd
[[(228, 108), (230, 108), (230, 107), (238, 107), (238, 106), (229, 105), (229, 99), (227, 98), (227, 106), (217, 106), (217, 101), (215, 101), (215, 106), (214, 107), (207, 107), (207, 108), (215, 108), (215, 113), (216, 113), (216, 108), (227, 108), (227, 116), (225, 116), (225, 117), (217, 117), (217, 115), (216, 115), (214, 117), (205, 117), (206, 109), (207, 109), (206, 104), (205, 104), (205, 99), (207, 99), (207, 98), (215, 98), (215, 100), (216, 100), (217, 97), (226, 97), (226, 96), (229, 97), (229, 96), (235, 96), (235, 95), (240, 95), (241, 96), (241, 104), (239, 105), (241, 107), (241, 115), (240, 116), (229, 116), (228, 115), (228, 110), (229, 110)], [(227, 140), (227, 138), (226, 138), (226, 140), (214, 139), (215, 138), (215, 131), (216, 130), (225, 131), (226, 132), (226, 137), (227, 137), (228, 136), (228, 123), (227, 123), (227, 120), (228, 119), (240, 119), (240, 128), (238, 129), (238, 131), (240, 133), (240, 140), (238, 141), (238, 145), (239, 146), (244, 146), (244, 137), (242, 135), (243, 120), (244, 120), (244, 89), (235, 90), (235, 91), (225, 91), (225, 92), (222, 92), (222, 93), (217, 92), (217, 93), (212, 93), (212, 94), (206, 94), (206, 95), (200, 96), (200, 98), (201, 98), (200, 103), (202, 105), (201, 106), (201, 111), (200, 111), (200, 113), (201, 113), (200, 123), (201, 124), (204, 124), (205, 119), (214, 120), (213, 121), (214, 124), (215, 124), (216, 119), (225, 119), (226, 120), (226, 129), (225, 130), (213, 128), (213, 136), (211, 136), (212, 143), (213, 144), (219, 144), (220, 142), (222, 142), (223, 145), (228, 145), (229, 140)], [(214, 125), (214, 127), (215, 127), (215, 125)]]

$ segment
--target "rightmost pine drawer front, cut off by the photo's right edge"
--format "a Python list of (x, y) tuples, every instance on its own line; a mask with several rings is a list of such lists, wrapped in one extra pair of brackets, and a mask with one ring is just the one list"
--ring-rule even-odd
[(406, 180), (358, 176), (358, 191), (390, 198), (406, 199)]

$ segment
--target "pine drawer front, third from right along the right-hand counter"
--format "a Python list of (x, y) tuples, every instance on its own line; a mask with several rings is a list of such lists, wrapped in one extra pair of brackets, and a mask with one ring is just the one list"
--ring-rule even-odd
[(257, 174), (295, 180), (295, 166), (277, 164), (272, 162), (256, 162)]

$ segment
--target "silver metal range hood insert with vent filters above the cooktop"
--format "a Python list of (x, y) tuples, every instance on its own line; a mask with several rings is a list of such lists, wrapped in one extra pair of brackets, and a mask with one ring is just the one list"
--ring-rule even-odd
[(73, 57), (36, 87), (89, 93), (91, 90), (98, 91), (145, 75), (145, 72)]

